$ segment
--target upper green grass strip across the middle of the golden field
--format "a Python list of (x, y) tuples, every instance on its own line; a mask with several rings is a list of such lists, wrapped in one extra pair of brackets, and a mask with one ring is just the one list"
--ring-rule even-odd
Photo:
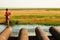
[(20, 15), (20, 16), (12, 16), (11, 18), (14, 19), (21, 19), (21, 18), (45, 18), (45, 17), (49, 17), (49, 18), (60, 18), (60, 15)]

